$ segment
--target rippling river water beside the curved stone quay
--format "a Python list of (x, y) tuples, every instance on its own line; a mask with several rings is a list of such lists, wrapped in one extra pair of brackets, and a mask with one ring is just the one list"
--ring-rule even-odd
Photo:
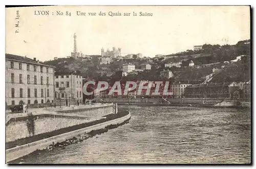
[(250, 110), (169, 106), (130, 109), (130, 123), (24, 163), (250, 163)]

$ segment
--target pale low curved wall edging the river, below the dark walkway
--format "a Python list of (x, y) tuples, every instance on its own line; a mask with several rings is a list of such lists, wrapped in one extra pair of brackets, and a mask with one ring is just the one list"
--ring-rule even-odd
[(42, 139), (39, 140), (37, 142), (33, 142), (30, 144), (26, 144), (26, 145), (22, 145), (22, 146), (18, 146), (15, 148), (11, 148), (11, 149), (7, 149), (6, 150), (6, 162), (15, 160), (17, 158), (23, 157), (25, 155), (28, 155), (34, 151), (38, 150), (42, 150), (42, 149), (46, 149), (49, 145), (51, 145), (53, 142), (57, 143), (57, 142), (63, 142), (66, 139), (70, 139), (73, 138), (75, 136), (77, 136), (78, 134), (84, 134), (84, 132), (88, 133), (92, 130), (98, 130), (98, 129), (103, 129), (106, 126), (109, 125), (116, 125), (116, 124), (120, 124), (122, 122), (124, 122), (125, 120), (128, 120), (131, 118), (131, 114), (129, 112), (128, 115), (118, 118), (118, 119), (114, 119), (108, 122), (104, 122), (104, 123), (100, 123), (100, 124), (96, 124), (94, 126), (89, 126), (86, 128), (82, 128), (79, 130), (74, 130), (68, 133), (63, 133), (60, 135), (56, 135), (50, 138), (46, 138), (46, 139)]

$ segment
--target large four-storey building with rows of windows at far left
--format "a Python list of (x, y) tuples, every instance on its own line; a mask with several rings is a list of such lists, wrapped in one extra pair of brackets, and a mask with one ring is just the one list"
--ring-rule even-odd
[(54, 67), (36, 58), (5, 54), (8, 106), (54, 102)]

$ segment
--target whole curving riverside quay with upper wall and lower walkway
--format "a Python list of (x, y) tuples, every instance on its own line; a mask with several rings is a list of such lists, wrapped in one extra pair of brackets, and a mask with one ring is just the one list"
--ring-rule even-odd
[[(115, 109), (115, 111), (114, 111)], [(31, 135), (26, 121), (28, 113), (8, 114), (6, 131), (6, 162), (28, 155), (36, 150), (44, 150), (69, 142), (80, 135), (106, 132), (129, 122), (130, 112), (117, 111), (113, 103), (97, 103), (74, 107), (29, 109), (34, 119), (34, 133)], [(94, 116), (95, 115), (95, 116)], [(9, 119), (9, 120), (8, 120)], [(101, 131), (102, 130), (102, 131)], [(88, 134), (84, 137), (89, 138)]]

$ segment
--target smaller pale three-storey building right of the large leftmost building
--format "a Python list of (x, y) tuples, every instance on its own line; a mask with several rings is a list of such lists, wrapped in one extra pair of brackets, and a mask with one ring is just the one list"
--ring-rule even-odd
[(55, 74), (55, 93), (57, 101), (63, 101), (62, 105), (82, 103), (82, 76), (71, 73)]

